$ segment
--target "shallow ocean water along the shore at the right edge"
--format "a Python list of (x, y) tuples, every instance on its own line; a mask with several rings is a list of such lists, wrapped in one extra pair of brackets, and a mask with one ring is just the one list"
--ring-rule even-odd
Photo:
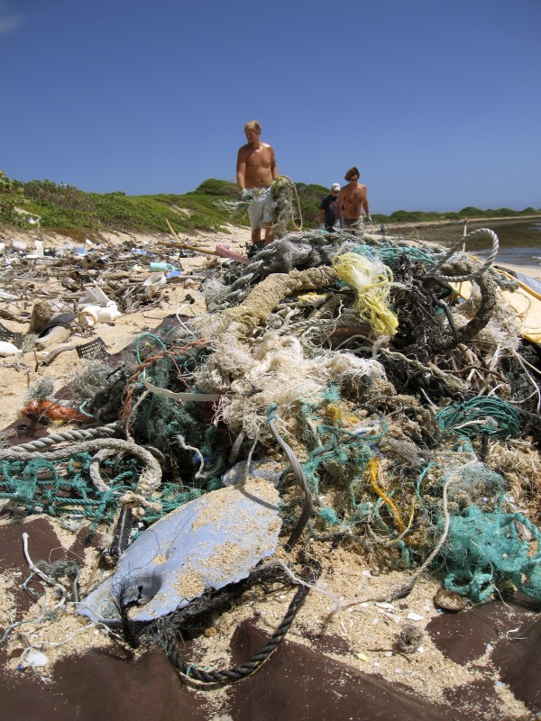
[[(506, 265), (506, 263), (523, 265), (532, 269), (536, 276), (541, 276), (541, 220), (539, 218), (468, 223), (468, 233), (479, 228), (490, 228), (498, 236), (500, 251), (495, 260), (497, 265)], [(415, 236), (419, 240), (450, 246), (462, 238), (463, 221), (444, 227), (418, 228)], [(471, 251), (478, 258), (485, 258), (491, 248), (485, 239), (469, 242), (466, 250)]]

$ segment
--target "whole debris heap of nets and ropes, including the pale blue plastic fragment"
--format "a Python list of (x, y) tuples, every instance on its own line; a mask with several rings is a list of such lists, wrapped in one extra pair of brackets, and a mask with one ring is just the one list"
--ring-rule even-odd
[[(104, 270), (99, 292), (123, 312), (140, 296)], [(89, 271), (66, 270), (74, 300)], [(540, 358), (502, 301), (510, 287), (457, 248), (345, 232), (222, 262), (201, 287), (206, 314), (143, 333), (113, 367), (88, 361), (77, 429), (1, 452), (4, 512), (96, 533), (102, 568), (87, 598), (66, 582), (72, 607), (160, 641), (185, 679), (180, 626), (252, 583), (296, 584), (259, 661), (192, 669), (209, 684), (272, 653), (321, 571), (314, 541), (406, 570), (388, 601), (431, 571), (444, 607), (538, 603)]]

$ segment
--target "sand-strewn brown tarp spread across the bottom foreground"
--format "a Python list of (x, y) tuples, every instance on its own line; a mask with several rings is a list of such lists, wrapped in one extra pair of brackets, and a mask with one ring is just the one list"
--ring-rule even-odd
[[(43, 518), (23, 524), (2, 526), (0, 571), (21, 571), (28, 576), (23, 557), (22, 534), (32, 538), (34, 559), (69, 557), (82, 551), (85, 538), (71, 552), (60, 550), (60, 541)], [(55, 550), (56, 549), (56, 550)], [(36, 592), (41, 582), (33, 582)], [(34, 602), (18, 590), (19, 608)], [(4, 619), (5, 623), (5, 619)], [(514, 629), (518, 629), (515, 631)], [(541, 712), (541, 664), (538, 648), (541, 618), (531, 611), (501, 602), (486, 604), (460, 614), (436, 617), (427, 631), (455, 662), (474, 662), (494, 646), (492, 660), (502, 680), (534, 714)], [(510, 633), (512, 631), (512, 633)], [(234, 633), (231, 643), (233, 662), (251, 657), (267, 641), (268, 635), (251, 621)], [(379, 719), (379, 721), (462, 721), (493, 719), (496, 702), (491, 681), (454, 689), (448, 705), (435, 705), (416, 697), (399, 684), (358, 671), (329, 655), (339, 653), (340, 640), (314, 639), (311, 648), (298, 643), (282, 643), (270, 660), (251, 677), (226, 687), (216, 695), (188, 688), (178, 672), (159, 650), (134, 660), (120, 647), (93, 650), (57, 662), (50, 672), (50, 683), (32, 678), (27, 672), (0, 668), (0, 708), (6, 721), (208, 721), (231, 718), (234, 721), (323, 721), (323, 719)], [(189, 645), (182, 650), (189, 659)], [(5, 653), (5, 652), (4, 652)], [(3, 658), (2, 661), (5, 661)], [(437, 684), (438, 670), (434, 670)]]

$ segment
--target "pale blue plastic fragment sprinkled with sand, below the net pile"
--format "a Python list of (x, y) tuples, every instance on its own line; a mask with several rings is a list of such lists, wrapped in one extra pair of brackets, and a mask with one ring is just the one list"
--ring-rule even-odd
[(188, 605), (205, 589), (248, 576), (278, 545), (279, 494), (250, 478), (189, 501), (151, 525), (120, 557), (115, 573), (78, 605), (94, 622), (119, 623), (115, 599), (135, 603), (133, 621), (151, 621)]

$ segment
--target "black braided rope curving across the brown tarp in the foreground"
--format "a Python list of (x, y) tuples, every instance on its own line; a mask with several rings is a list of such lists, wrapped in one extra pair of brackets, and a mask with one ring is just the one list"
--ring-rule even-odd
[[(321, 564), (316, 559), (310, 559), (310, 562), (314, 568), (312, 574), (312, 582), (316, 581), (321, 573)], [(283, 641), (285, 635), (288, 633), (295, 616), (298, 614), (298, 610), (303, 605), (305, 598), (307, 597), (309, 586), (299, 586), (298, 590), (289, 604), (286, 615), (283, 617), (281, 624), (276, 629), (274, 634), (265, 645), (261, 648), (258, 653), (252, 656), (252, 658), (244, 662), (241, 666), (233, 666), (230, 669), (224, 671), (204, 671), (203, 669), (197, 668), (194, 664), (190, 664), (184, 661), (179, 653), (177, 647), (177, 641), (175, 638), (170, 638), (166, 643), (165, 653), (168, 655), (170, 662), (180, 672), (180, 680), (188, 683), (188, 681), (197, 682), (197, 688), (211, 690), (216, 686), (225, 686), (229, 683), (235, 683), (245, 679), (247, 676), (251, 676), (252, 673), (258, 671), (262, 664), (268, 661)]]

